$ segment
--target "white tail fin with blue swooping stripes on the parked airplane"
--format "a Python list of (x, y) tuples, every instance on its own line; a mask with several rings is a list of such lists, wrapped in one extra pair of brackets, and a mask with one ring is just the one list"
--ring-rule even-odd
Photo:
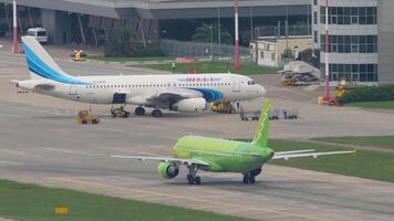
[(22, 46), (32, 78), (48, 78), (64, 84), (89, 84), (65, 74), (33, 36), (22, 36)]

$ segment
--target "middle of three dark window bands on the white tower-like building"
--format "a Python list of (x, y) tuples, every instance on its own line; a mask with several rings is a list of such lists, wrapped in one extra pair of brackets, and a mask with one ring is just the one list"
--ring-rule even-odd
[[(332, 53), (377, 53), (377, 35), (330, 35)], [(325, 35), (320, 35), (321, 49), (325, 49)]]

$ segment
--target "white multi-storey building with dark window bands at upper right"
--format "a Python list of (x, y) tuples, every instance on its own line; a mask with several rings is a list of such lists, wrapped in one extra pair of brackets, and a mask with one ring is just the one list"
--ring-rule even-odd
[[(325, 0), (312, 0), (314, 49), (325, 61)], [(394, 1), (330, 0), (330, 81), (375, 84), (394, 82)]]

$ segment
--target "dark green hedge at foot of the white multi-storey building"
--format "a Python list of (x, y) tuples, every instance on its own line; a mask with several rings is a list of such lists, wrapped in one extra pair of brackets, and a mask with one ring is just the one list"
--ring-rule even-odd
[(386, 101), (394, 101), (394, 84), (356, 88), (345, 93), (343, 97), (338, 99), (341, 104)]

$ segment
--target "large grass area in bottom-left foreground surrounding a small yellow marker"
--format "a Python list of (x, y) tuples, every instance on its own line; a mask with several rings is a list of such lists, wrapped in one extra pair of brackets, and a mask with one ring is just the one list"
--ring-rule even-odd
[[(68, 207), (68, 215), (54, 214)], [(0, 180), (0, 217), (30, 221), (247, 220), (211, 212)]]

